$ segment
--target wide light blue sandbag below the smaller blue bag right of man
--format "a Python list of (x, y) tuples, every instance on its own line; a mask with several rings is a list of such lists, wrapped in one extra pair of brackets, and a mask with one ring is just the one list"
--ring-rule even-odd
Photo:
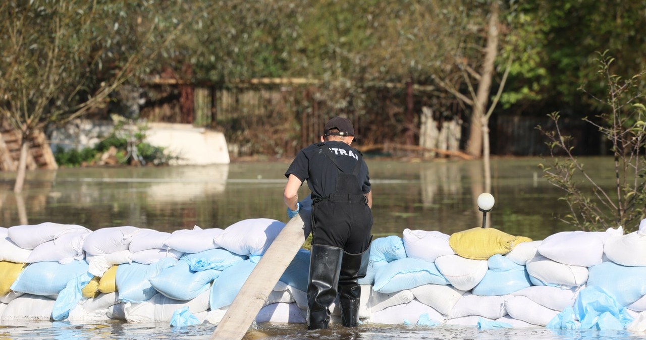
[(428, 284), (448, 285), (449, 282), (434, 263), (404, 257), (380, 268), (375, 275), (373, 290), (392, 293)]

